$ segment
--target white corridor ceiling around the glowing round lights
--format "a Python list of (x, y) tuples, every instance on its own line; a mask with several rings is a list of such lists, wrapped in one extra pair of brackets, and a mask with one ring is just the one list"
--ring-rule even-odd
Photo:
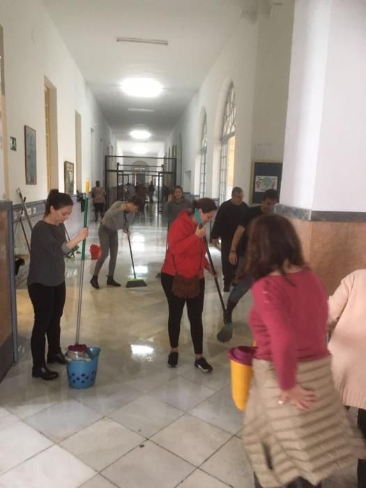
[[(248, 0), (43, 0), (119, 140), (140, 126), (162, 142), (241, 20)], [(165, 39), (169, 46), (116, 43), (116, 37)], [(131, 98), (125, 77), (152, 77), (155, 99)], [(129, 112), (129, 107), (153, 109)], [(130, 146), (130, 144), (128, 144)], [(155, 153), (156, 144), (152, 153)], [(126, 146), (127, 148), (127, 146)], [(151, 153), (151, 155), (152, 155)]]

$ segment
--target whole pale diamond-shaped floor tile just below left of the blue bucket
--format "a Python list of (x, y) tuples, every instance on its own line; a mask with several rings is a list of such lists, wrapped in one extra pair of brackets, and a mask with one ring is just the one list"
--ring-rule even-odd
[(66, 400), (26, 419), (26, 423), (54, 442), (79, 432), (102, 415), (76, 400)]

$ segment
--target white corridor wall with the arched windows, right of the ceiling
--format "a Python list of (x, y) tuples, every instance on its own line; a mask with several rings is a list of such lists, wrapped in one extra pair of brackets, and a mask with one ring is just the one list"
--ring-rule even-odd
[[(191, 188), (199, 192), (201, 109), (207, 112), (207, 195), (218, 197), (222, 116), (227, 89), (234, 82), (236, 95), (235, 185), (250, 199), (252, 158), (283, 158), (293, 1), (276, 15), (258, 22), (243, 19), (225, 45), (199, 91), (169, 135), (165, 148), (182, 135), (183, 174), (191, 171)], [(265, 153), (264, 153), (265, 148)]]

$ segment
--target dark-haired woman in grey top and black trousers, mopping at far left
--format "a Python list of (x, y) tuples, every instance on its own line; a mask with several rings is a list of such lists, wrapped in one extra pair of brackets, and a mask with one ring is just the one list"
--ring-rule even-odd
[(60, 322), (66, 299), (65, 257), (88, 236), (88, 229), (85, 228), (67, 241), (63, 222), (68, 220), (72, 211), (73, 200), (70, 195), (51, 190), (43, 220), (36, 223), (31, 235), (31, 262), (27, 284), (34, 310), (31, 335), (32, 376), (44, 380), (59, 376), (57, 372), (48, 369), (45, 363), (46, 336), (47, 363), (66, 364), (60, 345)]

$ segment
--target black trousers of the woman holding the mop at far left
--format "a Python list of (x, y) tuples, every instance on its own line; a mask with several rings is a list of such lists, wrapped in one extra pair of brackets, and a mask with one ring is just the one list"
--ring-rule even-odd
[(46, 335), (49, 353), (56, 354), (61, 349), (60, 321), (65, 305), (66, 286), (65, 282), (57, 287), (33, 283), (29, 285), (28, 292), (34, 309), (31, 351), (33, 366), (38, 367), (45, 363)]

